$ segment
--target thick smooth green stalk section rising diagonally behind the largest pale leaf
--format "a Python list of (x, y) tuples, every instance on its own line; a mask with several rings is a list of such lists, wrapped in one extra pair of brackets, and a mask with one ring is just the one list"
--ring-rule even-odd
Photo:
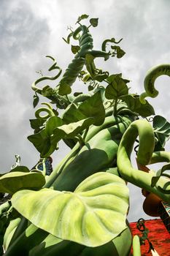
[(120, 124), (102, 129), (88, 140), (74, 160), (56, 178), (52, 184), (53, 189), (74, 191), (88, 176), (114, 165), (120, 139), (130, 124), (131, 118), (125, 118)]

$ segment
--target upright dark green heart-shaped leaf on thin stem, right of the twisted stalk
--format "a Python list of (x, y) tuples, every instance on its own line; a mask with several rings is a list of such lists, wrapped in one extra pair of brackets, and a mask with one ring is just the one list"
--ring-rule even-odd
[(110, 75), (107, 81), (109, 82), (105, 91), (107, 99), (117, 99), (128, 94), (128, 86), (126, 86), (123, 78), (120, 78), (120, 75)]

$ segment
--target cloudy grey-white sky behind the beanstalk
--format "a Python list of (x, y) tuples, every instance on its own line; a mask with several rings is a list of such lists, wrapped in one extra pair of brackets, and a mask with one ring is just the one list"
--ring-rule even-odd
[[(39, 78), (37, 70), (47, 74), (51, 62), (46, 55), (55, 57), (63, 70), (72, 60), (70, 47), (62, 37), (68, 34), (67, 26), (75, 28), (77, 17), (82, 14), (99, 18), (98, 27), (90, 30), (96, 50), (104, 39), (123, 38), (123, 59), (101, 63), (103, 69), (122, 72), (124, 78), (131, 80), (131, 92), (143, 91), (144, 75), (150, 67), (169, 63), (169, 0), (0, 0), (1, 173), (15, 162), (15, 154), (20, 154), (22, 165), (28, 167), (39, 159), (27, 140), (32, 134), (28, 120), (34, 118), (31, 83)], [(166, 118), (170, 114), (169, 83), (169, 77), (158, 78), (160, 94), (157, 99), (150, 99), (155, 112)], [(66, 151), (62, 144), (55, 161), (59, 162)], [(150, 219), (142, 213), (141, 189), (130, 190), (128, 219)]]

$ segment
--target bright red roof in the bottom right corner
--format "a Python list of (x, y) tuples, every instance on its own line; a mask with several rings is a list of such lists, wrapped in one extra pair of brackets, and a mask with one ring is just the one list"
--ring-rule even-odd
[[(144, 225), (150, 231), (148, 238), (152, 243), (152, 246), (158, 252), (159, 256), (170, 256), (170, 234), (163, 224), (161, 219), (151, 219), (146, 220)], [(134, 235), (142, 236), (141, 232), (136, 227), (136, 222), (131, 222), (131, 232)], [(150, 245), (146, 241), (144, 245), (141, 246), (142, 256), (152, 256), (149, 252)]]

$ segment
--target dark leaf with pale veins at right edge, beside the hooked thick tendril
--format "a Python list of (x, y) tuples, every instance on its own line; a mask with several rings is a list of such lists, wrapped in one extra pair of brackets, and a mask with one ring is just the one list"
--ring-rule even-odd
[(166, 140), (170, 138), (170, 124), (163, 116), (154, 116), (153, 130), (161, 146), (165, 146)]

